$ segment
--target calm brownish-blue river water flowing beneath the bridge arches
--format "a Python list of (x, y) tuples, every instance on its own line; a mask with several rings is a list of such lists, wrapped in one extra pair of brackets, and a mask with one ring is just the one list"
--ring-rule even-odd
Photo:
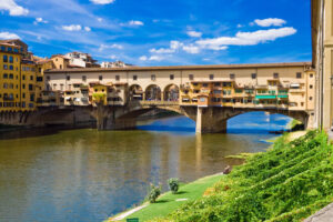
[(290, 121), (248, 113), (228, 134), (195, 135), (183, 118), (141, 122), (134, 131), (24, 130), (0, 134), (0, 221), (103, 221), (139, 204), (149, 183), (190, 182), (233, 164), (225, 155), (264, 151)]

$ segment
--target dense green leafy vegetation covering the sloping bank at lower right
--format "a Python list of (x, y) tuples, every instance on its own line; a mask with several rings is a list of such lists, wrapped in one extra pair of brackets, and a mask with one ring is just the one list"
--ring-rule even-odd
[(246, 157), (202, 198), (151, 221), (301, 221), (333, 202), (332, 151), (324, 132), (291, 142), (283, 135), (268, 152)]

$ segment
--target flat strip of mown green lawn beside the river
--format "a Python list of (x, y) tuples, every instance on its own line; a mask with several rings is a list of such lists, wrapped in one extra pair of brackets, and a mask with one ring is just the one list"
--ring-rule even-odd
[[(172, 211), (176, 210), (180, 205), (196, 200), (202, 196), (204, 191), (216, 183), (223, 175), (211, 175), (189, 184), (180, 186), (178, 194), (168, 192), (158, 199), (157, 203), (151, 203), (128, 216), (128, 219), (139, 218), (140, 222), (151, 220), (158, 216), (165, 216)], [(175, 201), (178, 199), (188, 199), (188, 201)]]

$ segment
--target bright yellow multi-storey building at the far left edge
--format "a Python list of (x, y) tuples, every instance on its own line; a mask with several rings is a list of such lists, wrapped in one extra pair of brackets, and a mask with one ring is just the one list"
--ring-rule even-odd
[(20, 111), (20, 47), (0, 42), (0, 111)]

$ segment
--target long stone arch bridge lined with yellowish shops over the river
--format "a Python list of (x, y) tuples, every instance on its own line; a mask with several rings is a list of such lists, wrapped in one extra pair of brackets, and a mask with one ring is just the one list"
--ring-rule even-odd
[(307, 128), (316, 121), (309, 62), (49, 70), (44, 80), (40, 110), (85, 110), (100, 130), (133, 128), (153, 109), (189, 117), (199, 133), (224, 132), (230, 118), (251, 111), (289, 115)]

